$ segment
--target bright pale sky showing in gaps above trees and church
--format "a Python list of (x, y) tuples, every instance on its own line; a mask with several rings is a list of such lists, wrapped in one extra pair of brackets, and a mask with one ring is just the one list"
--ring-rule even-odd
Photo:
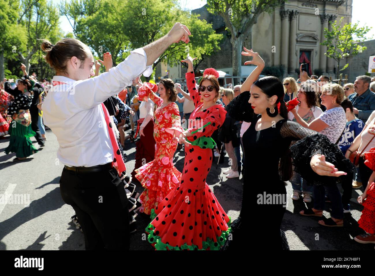
[[(61, 0), (52, 0), (53, 3), (60, 3)], [(192, 10), (201, 8), (204, 6), (206, 0), (179, 0), (181, 8)], [(359, 21), (359, 26), (372, 27), (367, 36), (374, 36), (375, 39), (375, 20), (374, 20), (374, 9), (369, 7), (370, 0), (353, 0), (353, 12), (352, 12), (352, 22), (355, 23)], [(366, 9), (365, 7), (369, 7)], [(70, 26), (66, 17), (60, 18), (60, 26), (64, 33), (72, 32), (72, 27)]]

